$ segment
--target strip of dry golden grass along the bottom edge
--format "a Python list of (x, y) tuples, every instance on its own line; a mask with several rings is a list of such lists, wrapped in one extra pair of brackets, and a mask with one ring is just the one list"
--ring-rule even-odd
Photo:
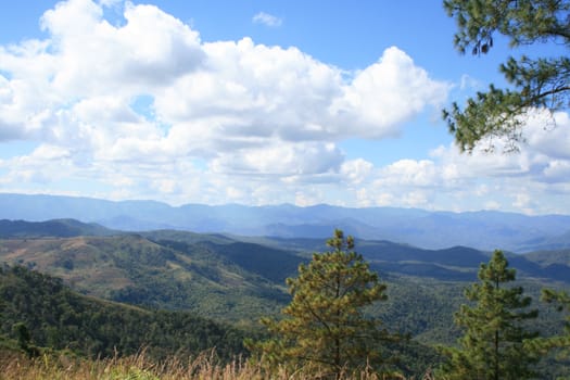
[[(219, 364), (213, 353), (181, 360), (172, 358), (156, 363), (147, 359), (144, 352), (130, 357), (87, 360), (71, 355), (48, 356), (28, 359), (22, 355), (0, 352), (1, 380), (306, 380), (322, 379), (318, 375), (307, 376), (303, 370), (278, 368), (269, 373), (259, 364), (236, 359)], [(397, 376), (381, 376), (363, 371), (344, 380), (405, 380)]]

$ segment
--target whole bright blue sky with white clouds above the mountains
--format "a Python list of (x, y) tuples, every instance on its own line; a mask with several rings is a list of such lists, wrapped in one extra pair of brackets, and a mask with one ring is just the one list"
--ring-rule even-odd
[(570, 214), (568, 110), (511, 154), (459, 153), (441, 117), (561, 50), (461, 55), (455, 30), (435, 0), (10, 2), (0, 192)]

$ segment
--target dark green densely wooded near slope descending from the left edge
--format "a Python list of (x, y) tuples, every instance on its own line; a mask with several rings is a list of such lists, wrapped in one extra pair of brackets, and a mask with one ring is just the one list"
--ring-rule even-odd
[(69, 349), (92, 357), (113, 356), (117, 351), (129, 355), (145, 347), (149, 355), (162, 358), (216, 347), (220, 357), (229, 359), (244, 353), (243, 338), (251, 335), (189, 313), (88, 297), (58, 278), (21, 266), (0, 267), (0, 340), (17, 340), (15, 327), (20, 326), (29, 335), (20, 342), (25, 349)]

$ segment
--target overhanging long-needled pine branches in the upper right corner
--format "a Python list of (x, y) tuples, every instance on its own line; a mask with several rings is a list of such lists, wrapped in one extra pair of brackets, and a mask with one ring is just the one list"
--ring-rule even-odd
[[(499, 69), (512, 88), (493, 85), (467, 101), (443, 111), (461, 151), (471, 152), (483, 138), (506, 137), (507, 150), (517, 150), (521, 126), (530, 109), (550, 112), (570, 106), (570, 1), (568, 0), (444, 0), (447, 14), (457, 21), (455, 46), (465, 53), (486, 54), (495, 35), (510, 47), (556, 43), (560, 56), (508, 58)], [(491, 143), (489, 149), (493, 149)]]

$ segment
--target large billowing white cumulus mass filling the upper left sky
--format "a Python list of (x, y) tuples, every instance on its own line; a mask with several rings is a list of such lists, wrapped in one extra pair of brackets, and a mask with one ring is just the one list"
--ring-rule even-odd
[[(203, 42), (154, 5), (125, 2), (124, 23), (112, 25), (111, 5), (60, 2), (41, 17), (46, 40), (0, 48), (0, 139), (59, 144), (93, 165), (198, 157), (225, 170), (317, 174), (342, 164), (326, 147), (397, 134), (445, 98), (447, 85), (397, 48), (343, 76), (294, 47)], [(132, 106), (142, 96), (152, 119)]]

